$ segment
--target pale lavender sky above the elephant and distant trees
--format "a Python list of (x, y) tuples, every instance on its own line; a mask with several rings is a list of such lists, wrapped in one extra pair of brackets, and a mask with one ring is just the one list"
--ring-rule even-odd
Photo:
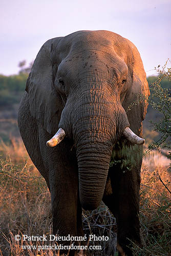
[(1, 0), (0, 74), (17, 74), (48, 39), (110, 30), (138, 48), (147, 76), (171, 58), (170, 0)]

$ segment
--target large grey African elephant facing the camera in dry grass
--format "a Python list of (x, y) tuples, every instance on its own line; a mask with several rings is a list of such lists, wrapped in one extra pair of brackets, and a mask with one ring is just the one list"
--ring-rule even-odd
[(116, 217), (120, 255), (132, 255), (130, 240), (141, 245), (147, 103), (127, 111), (137, 94), (149, 95), (140, 54), (116, 33), (78, 31), (50, 39), (39, 50), (20, 102), (18, 126), (49, 187), (54, 233), (83, 236), (82, 208), (96, 209), (103, 200)]

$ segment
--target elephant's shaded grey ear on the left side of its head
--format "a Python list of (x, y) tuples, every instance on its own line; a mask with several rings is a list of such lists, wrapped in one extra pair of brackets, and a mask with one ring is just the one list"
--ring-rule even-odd
[(63, 109), (61, 98), (54, 88), (57, 71), (55, 54), (60, 40), (61, 38), (48, 40), (41, 47), (26, 84), (31, 115), (50, 134), (56, 133)]

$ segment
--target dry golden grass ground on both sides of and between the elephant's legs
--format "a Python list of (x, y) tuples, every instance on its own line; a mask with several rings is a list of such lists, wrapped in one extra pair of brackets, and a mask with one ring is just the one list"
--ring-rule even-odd
[[(44, 178), (33, 166), (23, 142), (19, 139), (12, 139), (11, 142), (7, 145), (1, 141), (0, 144), (0, 255), (59, 255), (55, 250), (22, 249), (22, 245), (46, 245), (49, 241), (14, 239), (16, 234), (52, 234), (52, 214), (50, 193)], [(168, 164), (167, 158), (156, 151), (143, 159), (140, 190), (143, 248), (134, 245), (134, 255), (171, 255), (171, 205), (168, 191), (171, 174)], [(109, 236), (109, 241), (92, 241), (92, 245), (101, 245), (102, 249), (87, 251), (87, 255), (118, 255), (117, 226), (108, 208), (101, 205), (95, 211), (83, 211), (82, 219), (85, 233)]]

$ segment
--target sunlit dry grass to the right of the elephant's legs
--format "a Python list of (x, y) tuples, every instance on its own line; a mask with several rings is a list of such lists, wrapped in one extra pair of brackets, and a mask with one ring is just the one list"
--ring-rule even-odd
[(149, 171), (143, 166), (140, 190), (140, 223), (143, 248), (134, 247), (135, 255), (171, 255), (170, 174), (158, 166)]

